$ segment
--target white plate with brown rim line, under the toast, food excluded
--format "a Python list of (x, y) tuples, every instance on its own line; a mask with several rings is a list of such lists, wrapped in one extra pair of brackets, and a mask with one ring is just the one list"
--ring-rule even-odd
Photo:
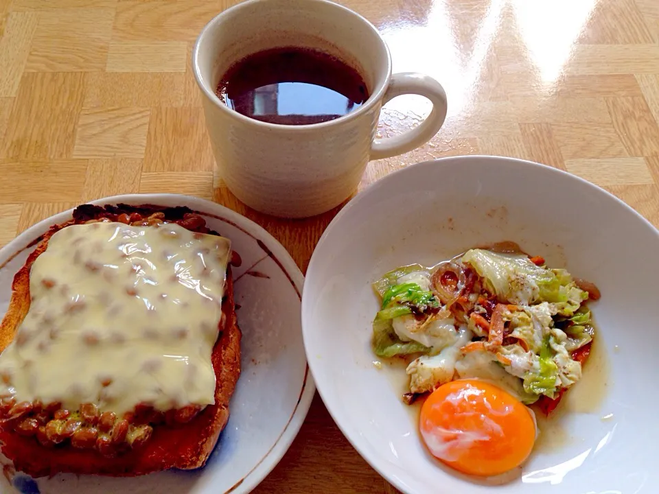
[[(0, 477), (0, 492), (248, 493), (284, 456), (314, 396), (299, 318), (302, 273), (286, 249), (263, 228), (213, 202), (174, 194), (115, 196), (93, 202), (117, 203), (194, 209), (205, 217), (209, 228), (231, 239), (242, 257), (242, 266), (233, 270), (235, 303), (240, 305), (236, 313), (242, 329), (242, 373), (229, 405), (229, 423), (203, 469), (138, 478), (60, 474), (36, 483), (18, 473), (9, 475), (13, 487)], [(27, 246), (49, 226), (70, 217), (71, 211), (49, 217), (0, 250), (0, 314), (7, 308), (14, 273), (32, 250)]]

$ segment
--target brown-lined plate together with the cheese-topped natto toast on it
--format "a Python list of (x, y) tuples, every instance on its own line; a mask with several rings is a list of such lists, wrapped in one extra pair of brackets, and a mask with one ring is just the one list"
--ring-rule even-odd
[(302, 283), (263, 228), (189, 196), (21, 233), (0, 250), (0, 492), (251, 491), (314, 395)]

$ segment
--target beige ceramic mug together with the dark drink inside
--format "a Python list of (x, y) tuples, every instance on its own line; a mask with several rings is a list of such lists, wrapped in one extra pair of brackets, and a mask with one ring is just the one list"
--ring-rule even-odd
[[(194, 75), (219, 172), (249, 207), (281, 217), (329, 211), (370, 159), (417, 148), (446, 118), (446, 93), (391, 55), (362, 16), (326, 0), (248, 0), (199, 35)], [(430, 99), (421, 125), (375, 139), (393, 97)]]

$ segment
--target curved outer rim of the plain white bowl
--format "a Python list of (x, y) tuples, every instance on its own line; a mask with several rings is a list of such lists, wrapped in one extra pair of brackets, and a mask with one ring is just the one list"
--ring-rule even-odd
[[(588, 180), (581, 178), (577, 175), (570, 174), (569, 172), (566, 172), (562, 169), (558, 169), (555, 167), (552, 167), (550, 165), (544, 165), (542, 163), (537, 163), (535, 161), (529, 161), (529, 160), (524, 160), (520, 158), (510, 158), (507, 156), (495, 156), (495, 155), (487, 155), (487, 154), (473, 154), (473, 155), (462, 155), (462, 156), (447, 156), (444, 158), (435, 158), (432, 160), (428, 161), (421, 161), (419, 163), (413, 163), (412, 165), (408, 165), (404, 168), (398, 169), (395, 172), (391, 172), (390, 174), (380, 178), (379, 180), (375, 181), (373, 184), (369, 185), (366, 189), (358, 193), (352, 200), (350, 200), (341, 211), (338, 212), (338, 214), (332, 219), (331, 222), (327, 225), (327, 228), (325, 228), (325, 231), (323, 232), (323, 235), (321, 235), (318, 243), (316, 244), (316, 248), (314, 248), (314, 252), (312, 254), (312, 257), (309, 261), (309, 265), (307, 268), (307, 271), (305, 273), (305, 285), (308, 285), (308, 280), (313, 278), (314, 276), (314, 271), (316, 270), (316, 264), (321, 263), (321, 259), (319, 259), (319, 252), (325, 242), (327, 242), (327, 239), (333, 235), (334, 230), (337, 228), (337, 225), (343, 221), (343, 217), (351, 213), (352, 210), (354, 210), (356, 207), (358, 207), (364, 200), (366, 200), (370, 195), (373, 193), (376, 193), (379, 189), (382, 189), (383, 187), (386, 187), (386, 185), (389, 185), (389, 183), (395, 182), (396, 180), (400, 180), (400, 177), (403, 176), (404, 174), (411, 173), (412, 170), (417, 170), (417, 173), (419, 172), (420, 168), (430, 168), (432, 166), (437, 166), (437, 165), (445, 165), (445, 166), (459, 166), (464, 163), (478, 163), (482, 161), (489, 161), (490, 163), (488, 166), (496, 166), (497, 163), (508, 163), (516, 166), (528, 166), (528, 167), (533, 167), (540, 173), (547, 173), (547, 174), (553, 174), (556, 176), (562, 176), (567, 180), (575, 180), (577, 183), (580, 183), (581, 186), (586, 187), (593, 191), (594, 193), (598, 194), (603, 194), (603, 196), (608, 196), (608, 198), (613, 199), (618, 206), (622, 207), (623, 209), (626, 209), (628, 212), (633, 213), (639, 220), (641, 220), (641, 223), (644, 224), (645, 227), (649, 228), (656, 237), (659, 239), (659, 229), (654, 226), (651, 222), (649, 222), (643, 215), (638, 213), (634, 208), (629, 206), (626, 202), (621, 200), (620, 198), (614, 196), (614, 194), (610, 193), (609, 191), (603, 189), (602, 187), (599, 187), (598, 185), (595, 185), (594, 183), (589, 182)], [(310, 371), (312, 374), (314, 374), (314, 369), (317, 366), (320, 366), (321, 364), (316, 363), (317, 359), (312, 358), (312, 349), (310, 348), (310, 333), (313, 331), (312, 327), (313, 325), (310, 324), (307, 321), (307, 316), (308, 312), (311, 310), (310, 305), (312, 304), (312, 300), (310, 300), (310, 295), (309, 295), (309, 290), (304, 290), (302, 294), (302, 304), (301, 304), (301, 320), (302, 320), (302, 337), (303, 337), (303, 342), (304, 342), (304, 348), (305, 352), (307, 353), (307, 362), (309, 364)], [(342, 423), (338, 420), (337, 412), (336, 412), (336, 406), (333, 404), (333, 402), (329, 402), (326, 399), (325, 392), (323, 390), (323, 381), (319, 381), (316, 379), (315, 374), (314, 374), (314, 382), (316, 383), (316, 390), (318, 391), (319, 396), (323, 400), (323, 403), (325, 404), (325, 408), (327, 408), (327, 411), (329, 412), (329, 415), (332, 416), (332, 420), (334, 420), (334, 423), (336, 423), (336, 426), (339, 428), (339, 430), (343, 433), (345, 438), (348, 440), (348, 442), (356, 449), (356, 451), (360, 454), (364, 460), (375, 470), (377, 471), (382, 478), (384, 478), (387, 482), (390, 482), (395, 486), (396, 489), (399, 489), (400, 491), (404, 493), (410, 493), (411, 491), (409, 490), (409, 486), (403, 482), (402, 479), (398, 478), (395, 475), (389, 475), (389, 473), (386, 472), (386, 469), (384, 468), (384, 465), (381, 464), (379, 459), (376, 459), (373, 456), (368, 456), (364, 449), (360, 447), (358, 442), (354, 440), (353, 437), (351, 437), (349, 434), (347, 434), (345, 427), (343, 426)]]

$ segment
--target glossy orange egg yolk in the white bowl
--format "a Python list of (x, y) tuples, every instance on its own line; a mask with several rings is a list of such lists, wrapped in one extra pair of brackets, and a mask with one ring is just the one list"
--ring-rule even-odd
[(433, 391), (421, 408), (419, 430), (433, 456), (469, 475), (515, 469), (535, 442), (531, 412), (508, 392), (474, 379)]

